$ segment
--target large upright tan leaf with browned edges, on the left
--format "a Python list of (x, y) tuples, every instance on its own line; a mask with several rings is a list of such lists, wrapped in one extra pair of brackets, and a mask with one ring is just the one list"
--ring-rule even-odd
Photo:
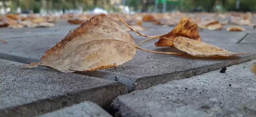
[[(111, 39), (111, 40), (110, 40)], [(136, 53), (130, 33), (105, 15), (96, 15), (71, 30), (38, 63), (61, 72), (92, 71), (119, 66)]]

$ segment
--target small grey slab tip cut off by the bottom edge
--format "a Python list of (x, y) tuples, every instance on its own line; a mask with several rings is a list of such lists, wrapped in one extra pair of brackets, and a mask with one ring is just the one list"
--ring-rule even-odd
[(85, 101), (44, 115), (35, 117), (113, 117), (97, 104)]

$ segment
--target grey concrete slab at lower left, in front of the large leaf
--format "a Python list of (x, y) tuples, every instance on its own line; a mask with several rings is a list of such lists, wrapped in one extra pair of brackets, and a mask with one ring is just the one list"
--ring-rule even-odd
[(85, 100), (104, 109), (125, 85), (106, 79), (23, 65), (0, 59), (0, 117), (28, 117), (59, 110)]

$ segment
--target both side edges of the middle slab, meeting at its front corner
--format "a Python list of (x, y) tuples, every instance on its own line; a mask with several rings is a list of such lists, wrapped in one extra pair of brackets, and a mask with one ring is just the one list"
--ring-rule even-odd
[(198, 76), (204, 73), (222, 69), (223, 67), (229, 67), (232, 65), (248, 62), (255, 58), (256, 58), (256, 54), (248, 55), (242, 58), (229, 60), (228, 62), (225, 61), (217, 64), (197, 67), (194, 69), (184, 70), (178, 73), (167, 73), (167, 74), (161, 74), (156, 76), (146, 76), (146, 77), (133, 76), (133, 75), (127, 75), (127, 74), (121, 74), (121, 73), (113, 73), (113, 72), (100, 71), (100, 70), (92, 71), (92, 72), (77, 73), (77, 74), (104, 78), (108, 80), (115, 80), (125, 84), (127, 86), (128, 92), (131, 92), (134, 90), (148, 89), (152, 86), (163, 84), (172, 80), (179, 80), (179, 79), (189, 78), (193, 76)]

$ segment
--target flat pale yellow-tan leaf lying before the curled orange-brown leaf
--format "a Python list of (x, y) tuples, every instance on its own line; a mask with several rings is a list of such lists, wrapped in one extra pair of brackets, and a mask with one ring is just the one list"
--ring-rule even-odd
[(196, 57), (219, 57), (219, 56), (228, 57), (228, 56), (249, 53), (249, 52), (230, 52), (220, 47), (216, 47), (214, 45), (210, 45), (205, 42), (197, 41), (187, 37), (176, 37), (171, 40), (173, 40), (174, 47)]

